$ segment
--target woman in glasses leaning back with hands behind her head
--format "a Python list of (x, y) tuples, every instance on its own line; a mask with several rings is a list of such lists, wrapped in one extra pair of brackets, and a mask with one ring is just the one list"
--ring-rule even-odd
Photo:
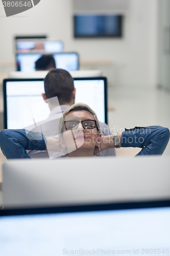
[(57, 151), (65, 157), (92, 157), (112, 147), (140, 147), (138, 155), (161, 155), (169, 130), (161, 126), (134, 127), (123, 133), (101, 136), (98, 118), (86, 104), (70, 106), (59, 122), (59, 138), (25, 130), (3, 130), (1, 149), (7, 159), (30, 158), (26, 150)]

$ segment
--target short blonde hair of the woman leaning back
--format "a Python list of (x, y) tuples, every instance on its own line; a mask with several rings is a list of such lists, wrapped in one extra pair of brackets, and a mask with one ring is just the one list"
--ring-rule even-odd
[(65, 110), (63, 112), (63, 114), (60, 118), (60, 122), (59, 122), (59, 136), (61, 136), (61, 133), (62, 133), (64, 117), (72, 111), (83, 111), (83, 110), (88, 111), (89, 113), (91, 113), (93, 115), (94, 120), (96, 121), (96, 126), (97, 126), (96, 128), (98, 130), (98, 134), (101, 134), (99, 120), (98, 120), (98, 117), (96, 116), (95, 112), (87, 104), (77, 103), (77, 104), (71, 105), (67, 110)]

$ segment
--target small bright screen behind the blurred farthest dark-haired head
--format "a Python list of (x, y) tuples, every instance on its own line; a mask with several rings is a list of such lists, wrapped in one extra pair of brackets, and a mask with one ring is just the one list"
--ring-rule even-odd
[[(17, 71), (35, 71), (35, 62), (42, 57), (42, 53), (19, 53), (16, 54)], [(73, 71), (79, 69), (79, 54), (76, 52), (62, 52), (52, 54), (56, 68)]]

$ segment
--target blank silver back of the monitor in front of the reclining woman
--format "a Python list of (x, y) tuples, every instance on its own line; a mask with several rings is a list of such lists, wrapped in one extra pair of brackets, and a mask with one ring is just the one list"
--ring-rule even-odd
[(169, 165), (157, 156), (10, 160), (4, 208), (170, 200)]

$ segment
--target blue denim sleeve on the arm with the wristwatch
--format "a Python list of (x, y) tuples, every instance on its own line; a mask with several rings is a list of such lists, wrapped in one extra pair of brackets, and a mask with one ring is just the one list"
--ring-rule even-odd
[(169, 141), (169, 130), (162, 126), (134, 127), (122, 134), (122, 147), (141, 147), (136, 155), (162, 155)]

